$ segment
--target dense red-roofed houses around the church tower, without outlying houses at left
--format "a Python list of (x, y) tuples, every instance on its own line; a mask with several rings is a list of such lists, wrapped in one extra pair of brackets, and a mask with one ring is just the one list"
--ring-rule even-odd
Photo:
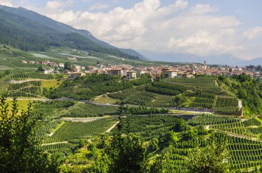
[(250, 70), (247, 67), (210, 67), (204, 62), (203, 65), (177, 65), (170, 66), (138, 66), (113, 65), (110, 67), (98, 65), (89, 66), (85, 73), (103, 73), (109, 76), (122, 76), (128, 79), (137, 78), (137, 75), (148, 73), (152, 78), (163, 76), (165, 78), (192, 78), (194, 76), (232, 76), (245, 73), (254, 78), (260, 78), (259, 71)]

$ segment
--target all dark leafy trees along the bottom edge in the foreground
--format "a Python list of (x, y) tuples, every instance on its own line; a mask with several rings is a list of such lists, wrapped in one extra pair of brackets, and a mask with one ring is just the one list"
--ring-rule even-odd
[[(37, 149), (34, 132), (38, 117), (30, 117), (28, 111), (19, 111), (17, 100), (12, 106), (6, 98), (0, 100), (0, 170), (1, 172), (57, 172), (56, 159)], [(95, 143), (90, 144), (91, 155), (97, 160), (93, 172), (163, 172), (168, 171), (163, 165), (170, 165), (168, 153), (156, 157), (150, 163), (150, 152), (144, 146), (141, 137), (130, 132), (123, 134), (121, 121), (124, 106), (119, 106), (119, 125), (112, 137), (103, 140), (103, 152), (98, 152)], [(182, 121), (183, 122), (183, 121)], [(182, 123), (181, 122), (181, 123)], [(185, 132), (186, 140), (194, 135), (192, 131), (177, 126), (174, 130)], [(201, 132), (203, 130), (198, 130)], [(192, 136), (193, 135), (193, 136)], [(170, 130), (161, 139), (152, 139), (151, 150), (159, 150), (159, 145), (172, 147), (179, 140), (177, 133)], [(83, 146), (83, 145), (82, 145)], [(188, 172), (228, 172), (228, 152), (225, 143), (214, 143), (205, 147), (195, 148), (185, 160), (185, 170)], [(171, 166), (171, 165), (170, 165)]]

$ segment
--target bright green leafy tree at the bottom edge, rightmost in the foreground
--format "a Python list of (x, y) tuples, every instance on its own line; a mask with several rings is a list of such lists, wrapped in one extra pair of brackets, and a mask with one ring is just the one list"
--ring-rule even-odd
[(228, 149), (226, 143), (214, 141), (204, 148), (195, 148), (190, 152), (187, 160), (190, 172), (229, 172)]

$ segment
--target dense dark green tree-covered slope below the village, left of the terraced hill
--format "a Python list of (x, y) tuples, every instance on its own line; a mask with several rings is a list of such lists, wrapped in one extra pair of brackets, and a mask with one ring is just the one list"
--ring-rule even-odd
[(97, 95), (132, 89), (134, 86), (149, 82), (148, 76), (141, 76), (141, 78), (131, 81), (123, 80), (119, 76), (93, 73), (74, 80), (66, 80), (58, 89), (44, 91), (44, 95), (50, 98), (71, 97), (74, 100), (90, 100)]

